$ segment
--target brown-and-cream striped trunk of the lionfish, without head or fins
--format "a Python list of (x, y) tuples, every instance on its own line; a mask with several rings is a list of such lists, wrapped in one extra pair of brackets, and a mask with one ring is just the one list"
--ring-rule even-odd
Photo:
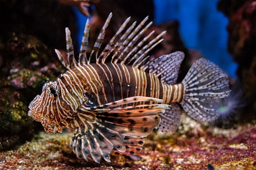
[(184, 95), (183, 84), (166, 85), (137, 68), (112, 63), (77, 66), (63, 74), (58, 82), (64, 94), (75, 98), (70, 100), (74, 112), (83, 104), (81, 96), (85, 92), (96, 95), (97, 105), (134, 96), (163, 99), (163, 104), (169, 104), (181, 102)]

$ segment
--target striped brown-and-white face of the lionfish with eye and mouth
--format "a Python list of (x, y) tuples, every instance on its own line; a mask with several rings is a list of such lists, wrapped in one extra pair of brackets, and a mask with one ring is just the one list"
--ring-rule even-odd
[[(57, 82), (46, 82), (43, 85), (41, 95), (37, 95), (29, 104), (28, 115), (36, 121), (40, 121), (47, 133), (62, 132), (61, 126), (67, 126), (67, 122), (57, 110), (60, 89)], [(63, 108), (63, 107), (62, 107)], [(54, 130), (53, 127), (56, 127)]]

